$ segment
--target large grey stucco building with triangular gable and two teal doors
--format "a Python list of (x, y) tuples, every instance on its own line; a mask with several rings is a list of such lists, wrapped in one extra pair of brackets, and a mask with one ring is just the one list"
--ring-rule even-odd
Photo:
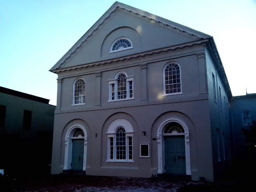
[(228, 167), (232, 94), (212, 36), (116, 2), (50, 71), (52, 174), (213, 181)]

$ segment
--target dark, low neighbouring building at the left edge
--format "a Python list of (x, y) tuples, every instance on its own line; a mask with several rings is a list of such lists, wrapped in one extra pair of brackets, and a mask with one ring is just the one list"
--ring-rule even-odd
[(55, 108), (48, 99), (0, 87), (0, 169), (5, 174), (49, 174)]

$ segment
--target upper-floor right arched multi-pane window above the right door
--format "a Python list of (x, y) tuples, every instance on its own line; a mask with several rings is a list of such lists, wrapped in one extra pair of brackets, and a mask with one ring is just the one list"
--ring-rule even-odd
[(170, 62), (164, 67), (164, 95), (181, 93), (180, 66), (176, 62)]

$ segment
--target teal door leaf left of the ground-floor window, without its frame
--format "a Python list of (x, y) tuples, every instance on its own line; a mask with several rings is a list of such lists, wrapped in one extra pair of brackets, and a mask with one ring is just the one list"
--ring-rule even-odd
[(71, 169), (83, 170), (84, 163), (84, 139), (72, 139)]

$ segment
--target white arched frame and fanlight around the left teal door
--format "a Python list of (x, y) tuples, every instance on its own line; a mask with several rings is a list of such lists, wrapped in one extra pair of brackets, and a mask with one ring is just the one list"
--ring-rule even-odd
[(84, 162), (83, 171), (86, 171), (87, 157), (87, 132), (83, 125), (74, 124), (70, 126), (65, 135), (65, 156), (63, 170), (71, 169), (72, 139), (84, 139)]

